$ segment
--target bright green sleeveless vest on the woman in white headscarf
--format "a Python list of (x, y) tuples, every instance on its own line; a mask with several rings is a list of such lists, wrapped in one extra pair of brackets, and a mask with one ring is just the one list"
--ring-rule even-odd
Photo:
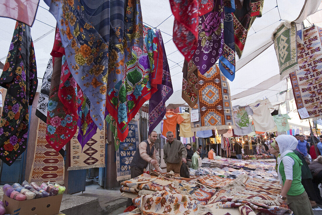
[[(301, 166), (303, 165), (301, 160), (298, 158), (298, 156), (294, 153), (287, 153), (285, 156), (289, 156), (291, 158), (293, 158), (294, 160), (294, 165), (293, 165), (293, 181), (292, 181), (292, 185), (291, 188), (289, 189), (289, 192), (287, 193), (290, 196), (297, 196), (300, 195), (304, 192), (304, 187), (301, 183)], [(283, 161), (281, 161), (280, 165), (279, 165), (279, 172), (282, 176), (282, 180), (283, 180), (283, 185), (285, 183), (285, 172), (284, 172), (284, 164)]]

